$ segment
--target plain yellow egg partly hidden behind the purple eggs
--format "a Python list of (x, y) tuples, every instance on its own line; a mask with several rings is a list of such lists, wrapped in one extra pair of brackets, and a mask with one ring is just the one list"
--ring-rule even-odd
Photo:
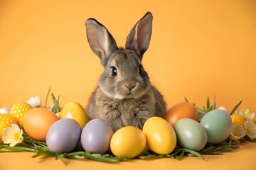
[(85, 108), (82, 108), (82, 106), (75, 101), (70, 101), (69, 103), (65, 104), (60, 112), (59, 118), (72, 118), (79, 123), (81, 129), (83, 129), (88, 122)]

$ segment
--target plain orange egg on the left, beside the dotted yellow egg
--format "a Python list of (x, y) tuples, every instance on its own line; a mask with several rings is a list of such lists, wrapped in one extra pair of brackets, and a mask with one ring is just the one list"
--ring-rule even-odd
[(46, 141), (47, 132), (58, 117), (46, 108), (32, 108), (23, 118), (23, 128), (34, 140)]

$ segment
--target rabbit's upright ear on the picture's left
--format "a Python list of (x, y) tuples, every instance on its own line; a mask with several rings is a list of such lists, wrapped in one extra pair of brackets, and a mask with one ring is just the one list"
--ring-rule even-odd
[(85, 22), (87, 39), (92, 52), (100, 57), (102, 65), (105, 66), (112, 52), (117, 50), (117, 43), (110, 32), (101, 23), (90, 18)]

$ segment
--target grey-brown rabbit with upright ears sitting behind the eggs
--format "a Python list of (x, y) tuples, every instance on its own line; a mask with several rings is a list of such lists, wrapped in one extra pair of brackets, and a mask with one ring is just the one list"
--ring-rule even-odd
[(151, 85), (142, 67), (142, 56), (151, 38), (152, 19), (152, 14), (147, 12), (135, 24), (127, 36), (125, 49), (117, 47), (107, 28), (94, 18), (85, 22), (90, 48), (104, 67), (85, 111), (90, 120), (106, 120), (114, 132), (128, 125), (142, 130), (148, 118), (164, 118), (166, 114), (163, 96)]

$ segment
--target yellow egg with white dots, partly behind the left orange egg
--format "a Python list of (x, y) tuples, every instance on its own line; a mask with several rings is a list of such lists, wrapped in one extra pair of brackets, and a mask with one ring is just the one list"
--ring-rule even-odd
[(31, 108), (33, 107), (26, 102), (18, 102), (11, 107), (10, 115), (13, 115), (18, 120), (18, 124), (23, 126), (23, 117)]

